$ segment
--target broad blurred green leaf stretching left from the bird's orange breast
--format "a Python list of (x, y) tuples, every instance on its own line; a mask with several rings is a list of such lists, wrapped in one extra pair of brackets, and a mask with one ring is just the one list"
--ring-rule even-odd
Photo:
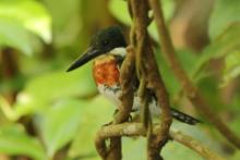
[(17, 96), (15, 112), (29, 114), (61, 99), (93, 96), (96, 87), (91, 72), (91, 64), (87, 64), (74, 72), (61, 70), (33, 78)]

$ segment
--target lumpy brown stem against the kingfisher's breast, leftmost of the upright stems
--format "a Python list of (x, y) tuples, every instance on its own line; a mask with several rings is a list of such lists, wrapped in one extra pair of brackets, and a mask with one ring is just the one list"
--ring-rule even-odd
[[(122, 89), (121, 106), (119, 107), (119, 111), (117, 112), (113, 125), (118, 123), (122, 123), (128, 121), (130, 112), (132, 110), (133, 103), (133, 88), (132, 88), (132, 81), (134, 75), (134, 52), (132, 47), (127, 48), (127, 58), (124, 59), (121, 72), (120, 72), (120, 84)], [(97, 134), (97, 138), (95, 140), (95, 145), (97, 148), (98, 153), (103, 159), (107, 160), (120, 160), (121, 159), (121, 136), (111, 137), (110, 138), (110, 146), (107, 150), (105, 139), (99, 138)]]

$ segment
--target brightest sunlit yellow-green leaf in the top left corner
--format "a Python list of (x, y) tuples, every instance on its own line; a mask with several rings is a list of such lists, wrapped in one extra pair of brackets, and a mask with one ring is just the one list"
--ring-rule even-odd
[[(19, 23), (22, 27), (51, 41), (51, 20), (45, 7), (35, 0), (1, 0), (0, 17)], [(14, 35), (14, 37), (17, 37)]]

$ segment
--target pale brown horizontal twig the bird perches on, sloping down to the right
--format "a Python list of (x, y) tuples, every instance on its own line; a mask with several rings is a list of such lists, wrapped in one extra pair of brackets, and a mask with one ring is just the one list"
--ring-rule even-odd
[[(159, 125), (154, 126), (154, 134), (158, 134), (159, 130)], [(101, 130), (98, 132), (98, 136), (100, 139), (116, 136), (146, 136), (146, 130), (142, 123), (122, 123), (101, 127)], [(200, 141), (188, 135), (184, 135), (179, 131), (170, 130), (169, 136), (171, 139), (194, 150), (196, 153), (207, 160), (224, 160), (224, 158), (215, 153)]]

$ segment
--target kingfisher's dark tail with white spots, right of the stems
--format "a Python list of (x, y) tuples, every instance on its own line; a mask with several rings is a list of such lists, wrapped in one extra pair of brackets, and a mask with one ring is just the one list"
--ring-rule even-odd
[(172, 109), (172, 108), (171, 108), (171, 115), (176, 120), (183, 122), (183, 123), (187, 123), (187, 124), (190, 124), (190, 125), (195, 125), (196, 123), (201, 123), (200, 120), (196, 120), (195, 118), (190, 116), (190, 115), (182, 113), (182, 112), (180, 112), (176, 109)]

